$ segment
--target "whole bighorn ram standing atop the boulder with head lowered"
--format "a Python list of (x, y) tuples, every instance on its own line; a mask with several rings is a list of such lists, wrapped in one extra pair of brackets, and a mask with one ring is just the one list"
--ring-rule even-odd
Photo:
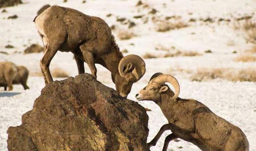
[(44, 45), (40, 66), (45, 84), (53, 81), (49, 65), (58, 50), (75, 55), (79, 74), (85, 72), (83, 62), (88, 64), (95, 78), (95, 64), (106, 67), (111, 72), (118, 93), (123, 97), (127, 97), (132, 84), (146, 71), (141, 57), (123, 57), (111, 29), (99, 17), (88, 16), (71, 8), (51, 6), (35, 17), (34, 22)]

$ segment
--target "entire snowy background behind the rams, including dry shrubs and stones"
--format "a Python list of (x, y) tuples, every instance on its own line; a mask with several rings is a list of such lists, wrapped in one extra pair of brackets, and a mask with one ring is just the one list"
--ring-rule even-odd
[[(43, 43), (32, 21), (45, 5), (101, 17), (124, 56), (137, 54), (145, 60), (146, 74), (134, 83), (128, 99), (136, 101), (136, 92), (154, 73), (174, 75), (181, 84), (180, 97), (196, 99), (240, 127), (250, 150), (256, 150), (255, 0), (0, 0), (0, 61), (30, 71), (29, 90), (21, 85), (12, 92), (0, 88), (0, 150), (7, 149), (7, 128), (21, 124), (21, 115), (31, 110), (44, 87), (39, 65)], [(110, 72), (96, 68), (98, 80), (114, 88)], [(57, 52), (50, 70), (54, 80), (77, 75), (74, 55)], [(85, 72), (90, 73), (86, 64)], [(153, 102), (139, 103), (152, 110), (147, 112), (150, 141), (167, 120)], [(151, 149), (162, 150), (170, 133)], [(199, 149), (181, 140), (171, 141), (168, 150)]]

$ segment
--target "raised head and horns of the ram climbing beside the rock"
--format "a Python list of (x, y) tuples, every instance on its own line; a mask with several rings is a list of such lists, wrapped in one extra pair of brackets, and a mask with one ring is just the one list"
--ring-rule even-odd
[(155, 73), (149, 80), (149, 83), (138, 94), (136, 94), (137, 100), (152, 100), (158, 102), (161, 98), (161, 93), (167, 91), (169, 87), (166, 82), (173, 85), (175, 94), (171, 99), (176, 99), (179, 95), (179, 83), (171, 75), (163, 75), (162, 73)]

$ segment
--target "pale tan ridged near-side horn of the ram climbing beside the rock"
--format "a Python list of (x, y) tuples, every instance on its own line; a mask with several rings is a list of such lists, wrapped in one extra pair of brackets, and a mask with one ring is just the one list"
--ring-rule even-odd
[(176, 99), (179, 96), (179, 82), (176, 78), (174, 78), (174, 76), (171, 75), (159, 75), (157, 76), (157, 78), (154, 79), (155, 83), (158, 84), (163, 84), (163, 83), (170, 83), (171, 85), (173, 85), (174, 89), (175, 89), (175, 94), (171, 99)]

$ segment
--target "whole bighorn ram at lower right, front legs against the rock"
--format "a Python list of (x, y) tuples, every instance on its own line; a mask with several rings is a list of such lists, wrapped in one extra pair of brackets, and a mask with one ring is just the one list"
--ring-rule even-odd
[[(175, 93), (165, 84), (171, 83)], [(172, 134), (165, 138), (163, 151), (171, 140), (181, 138), (189, 141), (203, 151), (249, 151), (249, 143), (237, 126), (214, 114), (207, 106), (193, 99), (181, 99), (179, 83), (171, 75), (155, 73), (149, 84), (136, 98), (152, 100), (160, 106), (169, 124), (161, 127), (155, 138), (148, 143), (155, 146), (165, 130)]]

